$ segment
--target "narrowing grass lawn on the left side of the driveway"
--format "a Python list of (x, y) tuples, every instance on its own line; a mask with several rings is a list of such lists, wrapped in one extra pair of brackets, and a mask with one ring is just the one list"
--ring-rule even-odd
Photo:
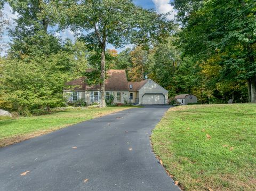
[(76, 111), (60, 111), (34, 117), (20, 117), (18, 119), (2, 118), (2, 120), (0, 119), (0, 147), (43, 135), (71, 124), (129, 108), (130, 107), (105, 107)]

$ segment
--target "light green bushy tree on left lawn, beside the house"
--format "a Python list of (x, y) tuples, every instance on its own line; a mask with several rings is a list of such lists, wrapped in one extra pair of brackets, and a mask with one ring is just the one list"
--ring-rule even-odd
[(62, 88), (67, 76), (59, 71), (58, 60), (6, 60), (0, 80), (1, 100), (12, 110), (27, 113), (65, 103)]

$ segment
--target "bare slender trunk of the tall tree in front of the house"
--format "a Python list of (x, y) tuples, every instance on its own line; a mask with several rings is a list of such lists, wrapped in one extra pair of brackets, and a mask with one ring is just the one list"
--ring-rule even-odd
[(102, 51), (101, 51), (101, 64), (100, 64), (100, 70), (101, 70), (101, 105), (103, 107), (106, 107), (106, 100), (105, 100), (105, 46), (102, 46)]

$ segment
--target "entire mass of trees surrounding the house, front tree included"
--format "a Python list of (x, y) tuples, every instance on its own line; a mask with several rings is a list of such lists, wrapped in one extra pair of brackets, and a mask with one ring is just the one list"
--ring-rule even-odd
[[(0, 57), (0, 108), (28, 114), (63, 106), (65, 82), (98, 69), (125, 69), (131, 81), (150, 78), (169, 97), (195, 94), (199, 102), (256, 102), (256, 3), (253, 0), (176, 0), (177, 15), (142, 9), (130, 0), (0, 0), (18, 19)], [(7, 20), (0, 12), (0, 29)], [(62, 40), (52, 28), (70, 29)], [(1, 31), (0, 31), (1, 34)], [(133, 44), (121, 52), (107, 49)], [(105, 105), (105, 104), (103, 104)]]

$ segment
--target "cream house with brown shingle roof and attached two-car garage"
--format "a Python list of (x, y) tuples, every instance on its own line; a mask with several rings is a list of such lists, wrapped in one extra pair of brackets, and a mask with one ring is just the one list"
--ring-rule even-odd
[[(69, 102), (79, 99), (88, 105), (101, 102), (100, 85), (87, 85), (85, 77), (66, 83), (69, 89), (63, 90), (70, 95)], [(167, 104), (168, 91), (151, 79), (127, 81), (125, 70), (108, 70), (105, 80), (105, 98), (114, 96), (116, 104)]]

